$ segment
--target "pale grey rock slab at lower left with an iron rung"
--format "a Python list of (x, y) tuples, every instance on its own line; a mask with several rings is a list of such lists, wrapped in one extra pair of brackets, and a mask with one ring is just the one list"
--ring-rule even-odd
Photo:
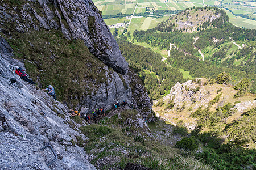
[[(2, 76), (13, 78), (10, 62), (19, 63), (1, 54), (0, 169), (96, 169), (75, 144), (78, 136), (88, 138), (70, 127), (68, 108), (18, 76), (18, 82), (9, 85)], [(55, 156), (49, 148), (40, 150), (47, 143), (57, 154), (49, 167)]]

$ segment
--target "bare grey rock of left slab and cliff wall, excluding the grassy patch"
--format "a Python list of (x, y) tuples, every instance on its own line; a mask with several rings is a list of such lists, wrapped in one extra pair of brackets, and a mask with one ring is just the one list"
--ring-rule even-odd
[[(122, 103), (122, 100), (126, 100), (129, 107), (137, 109), (137, 117), (139, 117), (136, 122), (132, 119), (127, 120), (127, 124), (130, 126), (135, 124), (135, 128), (147, 128), (148, 132), (144, 119), (152, 121), (154, 116), (151, 113), (151, 102), (146, 89), (138, 76), (128, 69), (117, 42), (92, 1), (25, 0), (1, 3), (0, 31), (7, 37), (10, 44), (12, 39), (24, 41), (24, 35), (28, 32), (38, 31), (44, 34), (49, 29), (60, 29), (61, 33), (70, 40), (82, 39), (90, 53), (104, 63), (95, 57), (90, 58), (90, 61), (94, 59), (100, 63), (97, 66), (102, 66), (101, 70), (97, 70), (98, 67), (94, 70), (101, 73), (94, 74), (96, 77), (90, 79), (86, 79), (85, 73), (84, 81), (81, 80), (81, 82), (76, 78), (71, 80), (77, 82), (76, 85), (78, 84), (82, 89), (79, 97), (76, 95), (70, 97), (71, 100), (79, 103), (72, 107), (81, 108), (81, 113), (91, 113), (93, 108), (104, 106), (106, 111), (113, 107), (115, 101)], [(18, 36), (15, 37), (15, 34)], [(33, 52), (37, 54), (36, 49), (33, 49), (36, 41), (27, 40), (26, 42), (32, 47), (28, 50), (34, 50)], [(49, 41), (46, 44), (49, 45)], [(81, 44), (83, 46), (83, 43)], [(57, 43), (56, 46), (59, 48), (60, 44)], [(40, 61), (28, 58), (20, 61), (13, 59), (15, 49), (17, 48), (13, 50), (1, 37), (0, 155), (2, 156), (0, 169), (96, 169), (89, 163), (89, 157), (84, 149), (76, 145), (77, 141), (85, 142), (88, 138), (77, 128), (81, 125), (77, 125), (73, 119), (69, 118), (67, 105), (53, 101), (51, 96), (39, 90), (38, 87), (23, 82), (18, 76), (15, 77), (16, 83), (9, 85), (10, 78), (15, 76), (10, 67), (18, 65), (24, 68), (23, 61), (35, 63), (35, 69), (38, 69), (36, 70), (38, 72), (45, 71), (39, 69)], [(51, 52), (49, 56), (47, 55), (52, 59), (51, 62), (55, 63), (57, 59), (63, 59), (56, 57), (51, 49), (48, 51)], [(28, 53), (25, 55), (29, 56)], [(86, 55), (90, 54), (86, 53)], [(90, 61), (81, 63), (85, 63), (85, 67), (88, 65), (90, 68), (94, 67), (95, 65)], [(97, 75), (102, 73), (105, 74), (102, 76), (104, 81), (96, 81)], [(40, 76), (34, 76), (35, 78), (38, 79), (38, 83), (41, 83)], [(89, 82), (90, 80), (92, 82)], [(61, 83), (61, 79), (56, 80), (56, 83), (57, 81)], [(80, 83), (84, 86), (80, 86)], [(91, 85), (90, 88), (86, 87), (89, 86), (88, 84)], [(85, 122), (81, 124), (86, 125)], [(51, 146), (57, 155), (49, 148), (42, 150), (44, 146)], [(57, 156), (56, 161), (47, 165), (55, 159), (55, 156)]]

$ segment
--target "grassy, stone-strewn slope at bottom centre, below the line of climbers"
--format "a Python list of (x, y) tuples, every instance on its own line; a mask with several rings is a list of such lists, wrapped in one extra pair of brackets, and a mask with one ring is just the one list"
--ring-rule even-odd
[[(135, 111), (125, 110), (119, 116), (115, 114), (102, 119), (98, 125), (80, 127), (90, 139), (82, 141), (78, 137), (77, 144), (93, 155), (90, 162), (97, 168), (123, 169), (128, 162), (133, 162), (151, 169), (211, 169), (192, 156), (181, 156), (180, 150), (155, 141), (152, 136), (144, 134), (143, 129), (134, 129), (134, 124), (127, 125), (125, 121), (135, 115)], [(153, 134), (166, 136), (160, 132), (163, 126), (168, 128), (170, 125), (163, 122), (150, 124)]]

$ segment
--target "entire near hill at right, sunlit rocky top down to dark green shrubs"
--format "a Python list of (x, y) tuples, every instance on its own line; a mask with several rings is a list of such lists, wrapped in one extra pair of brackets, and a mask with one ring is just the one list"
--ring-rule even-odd
[(176, 146), (193, 148), (200, 142), (198, 158), (216, 169), (254, 169), (255, 95), (234, 98), (235, 94), (230, 85), (194, 79), (177, 83), (170, 94), (155, 101), (153, 109), (176, 126), (174, 133), (183, 135)]

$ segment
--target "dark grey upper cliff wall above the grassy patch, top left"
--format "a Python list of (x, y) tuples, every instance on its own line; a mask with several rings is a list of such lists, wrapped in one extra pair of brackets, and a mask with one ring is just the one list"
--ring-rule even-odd
[[(15, 1), (16, 2), (16, 1)], [(2, 32), (29, 32), (34, 29), (61, 29), (67, 39), (82, 39), (94, 56), (121, 74), (128, 63), (117, 42), (91, 0), (19, 1), (0, 6)], [(8, 24), (7, 24), (8, 23)]]

